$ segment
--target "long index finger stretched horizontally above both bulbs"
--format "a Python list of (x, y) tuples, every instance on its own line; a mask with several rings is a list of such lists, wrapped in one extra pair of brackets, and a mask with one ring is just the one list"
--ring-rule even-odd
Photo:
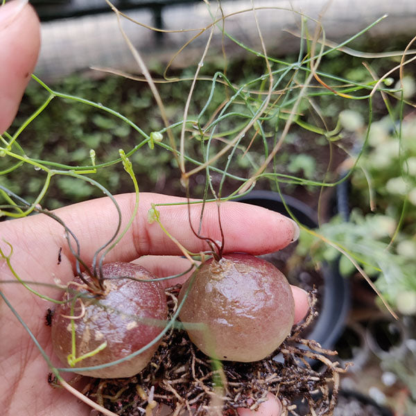
[[(132, 215), (135, 195), (116, 196), (125, 227)], [(111, 250), (105, 261), (132, 261), (146, 254), (177, 255), (182, 252), (166, 235), (158, 223), (148, 223), (148, 210), (152, 203), (186, 202), (184, 198), (162, 196), (155, 193), (141, 193), (139, 211), (123, 239)], [(192, 252), (208, 250), (205, 241), (198, 239), (189, 225), (187, 205), (158, 207), (160, 220), (166, 232), (180, 241)], [(191, 206), (191, 222), (198, 229), (201, 205)], [(94, 253), (114, 234), (118, 216), (110, 198), (81, 202), (55, 211), (64, 223), (76, 234), (80, 243), (81, 257), (88, 264)], [(220, 220), (225, 239), (225, 252), (248, 252), (263, 254), (284, 248), (299, 235), (297, 225), (274, 211), (239, 202), (224, 202), (220, 205)], [(46, 264), (55, 264), (58, 250), (62, 257), (73, 263), (64, 238), (62, 225), (44, 215), (31, 216), (20, 220), (6, 221), (2, 225), (3, 238), (12, 243), (16, 257), (31, 255), (42, 258)], [(201, 234), (220, 240), (220, 226), (217, 205), (205, 206)], [(20, 250), (20, 252), (19, 252)], [(23, 258), (23, 257), (21, 257)], [(54, 271), (54, 270), (51, 270)], [(56, 272), (59, 272), (57, 269)]]

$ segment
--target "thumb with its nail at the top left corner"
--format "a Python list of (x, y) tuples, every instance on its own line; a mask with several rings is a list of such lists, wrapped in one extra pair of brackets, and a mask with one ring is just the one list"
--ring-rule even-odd
[(0, 7), (0, 134), (12, 123), (40, 49), (40, 22), (27, 1)]

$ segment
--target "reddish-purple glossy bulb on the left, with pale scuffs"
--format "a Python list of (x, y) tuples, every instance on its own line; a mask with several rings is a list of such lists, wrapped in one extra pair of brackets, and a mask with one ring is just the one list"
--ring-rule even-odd
[[(96, 299), (81, 297), (85, 312), (79, 301), (73, 306), (72, 316), (82, 315), (73, 320), (76, 333), (76, 357), (94, 351), (104, 342), (107, 346), (92, 357), (76, 363), (75, 367), (92, 367), (118, 360), (136, 352), (153, 340), (164, 328), (167, 318), (167, 304), (164, 288), (155, 281), (135, 281), (155, 278), (145, 268), (133, 263), (108, 263), (103, 266), (103, 277), (107, 295)], [(85, 276), (87, 279), (87, 277)], [(83, 282), (77, 277), (78, 284)], [(69, 285), (69, 293), (62, 300), (73, 297), (76, 292), (91, 293), (76, 284)], [(68, 366), (71, 354), (71, 302), (61, 304), (52, 319), (52, 342), (55, 354)], [(92, 377), (103, 379), (131, 377), (140, 372), (158, 347), (156, 343), (138, 356), (100, 370), (80, 371)]]

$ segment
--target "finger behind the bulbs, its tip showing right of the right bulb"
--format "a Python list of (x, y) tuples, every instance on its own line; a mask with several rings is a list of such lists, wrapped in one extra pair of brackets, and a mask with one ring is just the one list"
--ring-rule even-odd
[[(133, 261), (147, 270), (150, 270), (157, 277), (168, 277), (186, 272), (189, 269), (189, 261), (182, 257), (175, 256), (144, 256)], [(165, 288), (182, 284), (191, 277), (192, 272), (187, 272), (181, 277), (162, 280)], [(293, 299), (295, 300), (295, 324), (300, 322), (309, 311), (308, 294), (302, 288), (291, 285)]]

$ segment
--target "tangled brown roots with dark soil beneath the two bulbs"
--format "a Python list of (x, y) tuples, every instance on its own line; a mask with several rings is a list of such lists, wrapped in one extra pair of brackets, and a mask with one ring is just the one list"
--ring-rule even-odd
[[(166, 292), (170, 315), (177, 309), (179, 290), (177, 285)], [(268, 392), (281, 401), (282, 415), (332, 415), (339, 375), (347, 367), (331, 361), (336, 352), (302, 338), (317, 315), (315, 291), (309, 294), (309, 304), (304, 323), (262, 361), (214, 361), (196, 349), (185, 331), (171, 329), (139, 374), (130, 379), (90, 379), (83, 393), (120, 416), (150, 416), (159, 404), (171, 408), (174, 416), (237, 415), (237, 408), (256, 410)]]

